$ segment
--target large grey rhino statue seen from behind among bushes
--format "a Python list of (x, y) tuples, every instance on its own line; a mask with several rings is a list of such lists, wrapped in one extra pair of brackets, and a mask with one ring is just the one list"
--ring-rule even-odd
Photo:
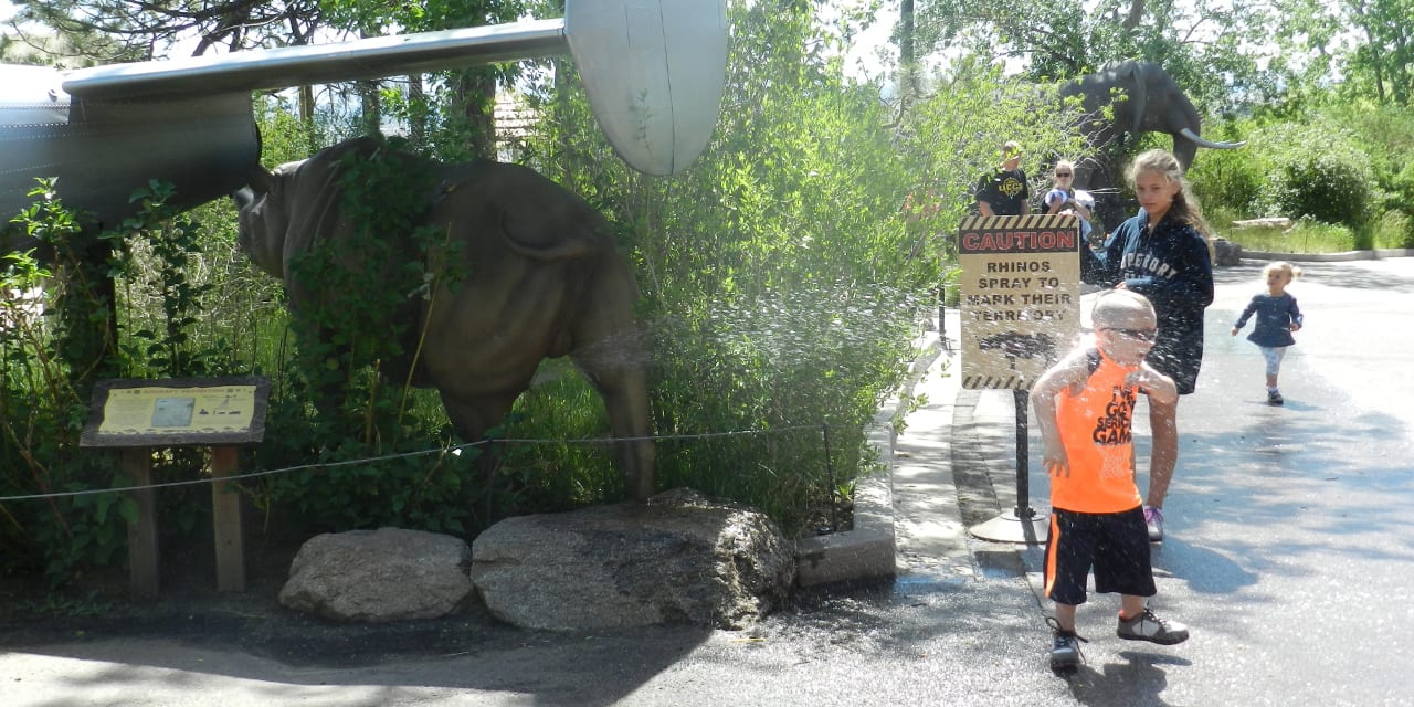
[[(233, 195), (242, 247), (284, 281), (291, 310), (328, 296), (291, 277), (291, 262), (317, 242), (351, 240), (339, 175), (351, 153), (379, 150), (392, 148), (373, 137), (346, 140), (274, 171), (257, 168)], [(457, 287), (410, 300), (399, 314), (407, 320), (389, 322), (421, 338), (413, 383), (436, 387), (457, 433), (477, 441), (510, 411), (542, 359), (568, 355), (604, 397), (629, 495), (650, 496), (655, 452), (633, 317), (638, 288), (609, 223), (526, 167), (390, 154), (395, 164), (431, 173), (426, 223), (460, 242), (447, 252), (468, 273)], [(335, 247), (341, 259), (358, 257), (348, 250)]]

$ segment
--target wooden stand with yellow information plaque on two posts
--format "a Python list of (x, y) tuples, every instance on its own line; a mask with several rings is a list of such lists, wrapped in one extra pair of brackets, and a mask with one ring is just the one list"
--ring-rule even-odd
[(211, 516), (216, 543), (216, 588), (246, 588), (240, 496), (232, 482), (239, 472), (239, 444), (264, 438), (264, 378), (115, 379), (93, 389), (81, 447), (122, 450), (123, 472), (139, 486), (137, 522), (127, 526), (127, 560), (134, 598), (150, 600), (158, 590), (157, 493), (153, 450), (211, 447)]

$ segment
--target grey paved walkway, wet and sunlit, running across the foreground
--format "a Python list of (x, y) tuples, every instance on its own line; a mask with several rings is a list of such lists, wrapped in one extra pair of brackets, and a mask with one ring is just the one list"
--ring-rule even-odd
[[(1408, 704), (1414, 259), (1302, 266), (1284, 407), (1266, 404), (1256, 346), (1227, 334), (1261, 263), (1217, 273), (1155, 550), (1154, 605), (1192, 626), (1188, 643), (1116, 639), (1117, 598), (1096, 597), (1080, 609), (1085, 667), (1070, 682), (1045, 669), (1038, 549), (966, 533), (1015, 503), (1012, 396), (959, 390), (945, 352), (896, 443), (892, 581), (800, 592), (747, 632), (564, 635), (467, 617), (361, 633), (262, 600), (202, 617), (177, 605), (164, 626), (0, 635), (0, 704)], [(1028, 479), (1045, 512), (1045, 475)]]

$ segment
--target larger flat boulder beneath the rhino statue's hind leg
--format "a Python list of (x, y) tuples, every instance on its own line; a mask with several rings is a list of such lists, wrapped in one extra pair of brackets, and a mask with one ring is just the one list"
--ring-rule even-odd
[(471, 578), (495, 617), (522, 628), (738, 629), (785, 600), (795, 571), (765, 515), (672, 491), (502, 520), (472, 542)]

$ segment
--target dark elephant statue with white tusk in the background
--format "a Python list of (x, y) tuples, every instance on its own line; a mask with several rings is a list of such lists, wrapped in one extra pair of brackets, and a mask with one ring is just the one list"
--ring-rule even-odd
[[(1154, 62), (1127, 59), (1110, 64), (1097, 74), (1087, 74), (1063, 83), (1059, 95), (1062, 99), (1080, 96), (1080, 112), (1085, 116), (1080, 132), (1097, 151), (1103, 151), (1126, 134), (1168, 133), (1174, 137), (1174, 157), (1184, 170), (1188, 170), (1199, 147), (1233, 150), (1246, 144), (1205, 140), (1200, 136), (1202, 119), (1198, 116), (1198, 109), (1174, 78)], [(1113, 117), (1100, 117), (1106, 106), (1113, 106)], [(1114, 206), (1113, 194), (1118, 182), (1118, 170), (1103, 160), (1080, 163), (1076, 164), (1073, 184), (1096, 194), (1102, 201), (1100, 221), (1114, 226), (1116, 216), (1107, 215), (1104, 206)]]

